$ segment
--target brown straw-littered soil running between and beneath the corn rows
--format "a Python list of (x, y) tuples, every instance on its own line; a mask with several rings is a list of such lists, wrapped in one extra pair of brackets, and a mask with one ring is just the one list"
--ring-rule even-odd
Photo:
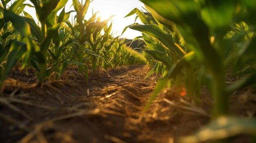
[[(40, 87), (33, 70), (28, 75), (12, 71), (0, 95), (0, 142), (176, 143), (209, 122), (213, 101), (206, 89), (195, 106), (166, 88), (143, 112), (158, 79), (144, 79), (149, 70), (144, 65), (99, 69), (87, 84), (70, 68), (60, 80), (49, 78)], [(255, 101), (251, 90), (234, 93), (231, 114), (255, 116)], [(250, 141), (238, 136), (234, 143), (241, 140)]]

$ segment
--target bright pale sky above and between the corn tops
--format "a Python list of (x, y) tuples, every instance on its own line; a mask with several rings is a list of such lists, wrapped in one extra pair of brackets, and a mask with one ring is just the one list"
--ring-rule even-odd
[[(84, 2), (85, 0), (83, 0)], [(30, 3), (27, 0), (25, 3)], [(73, 10), (70, 6), (72, 5), (72, 0), (68, 0), (65, 11)], [(123, 29), (134, 23), (135, 15), (130, 16), (128, 18), (124, 18), (132, 9), (144, 7), (144, 4), (139, 0), (93, 0), (90, 3), (90, 7), (88, 9), (87, 14), (85, 15), (85, 19), (89, 19), (92, 16), (92, 11), (95, 13), (99, 11), (101, 13), (101, 19), (108, 19), (110, 16), (115, 15), (112, 18), (112, 32), (114, 36), (121, 35)], [(25, 11), (32, 15), (32, 17), (36, 18), (35, 11), (33, 8), (26, 7)], [(75, 15), (75, 13), (73, 13)], [(139, 20), (137, 23), (141, 23)], [(141, 36), (141, 33), (132, 29), (127, 29), (126, 32), (121, 35), (121, 37), (126, 37), (128, 39), (133, 39), (137, 36)]]

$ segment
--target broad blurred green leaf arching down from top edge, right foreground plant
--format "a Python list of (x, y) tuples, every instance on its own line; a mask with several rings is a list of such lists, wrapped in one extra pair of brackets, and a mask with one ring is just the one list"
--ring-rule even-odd
[[(211, 45), (210, 30), (199, 16), (200, 0), (140, 0), (147, 5), (154, 17), (170, 27), (175, 22), (177, 29), (188, 43), (187, 48), (195, 51), (200, 62), (207, 64), (212, 72), (222, 70), (222, 57)], [(164, 43), (163, 43), (164, 44)], [(166, 45), (165, 45), (166, 46)], [(168, 47), (168, 46), (167, 46)]]

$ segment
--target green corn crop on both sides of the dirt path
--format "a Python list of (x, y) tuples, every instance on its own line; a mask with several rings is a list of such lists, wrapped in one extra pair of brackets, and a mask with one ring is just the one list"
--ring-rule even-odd
[[(211, 123), (197, 133), (180, 140), (197, 143), (237, 134), (256, 136), (256, 120), (229, 116), (228, 100), (243, 88), (256, 84), (256, 0), (140, 0), (145, 9), (133, 9), (143, 24), (127, 28), (140, 31), (145, 48), (126, 47), (124, 40), (113, 37), (110, 19), (101, 21), (97, 13), (85, 20), (90, 0), (73, 0), (74, 11), (64, 10), (67, 0), (1, 0), (0, 5), (0, 77), (4, 82), (14, 66), (36, 69), (39, 84), (52, 72), (56, 79), (67, 66), (79, 68), (88, 77), (88, 68), (115, 68), (145, 64), (163, 77), (145, 107), (166, 86), (186, 91), (196, 104), (207, 87), (214, 101)], [(37, 24), (25, 7), (36, 10)], [(59, 15), (57, 12), (61, 11)], [(70, 21), (70, 13), (76, 13)], [(23, 16), (21, 16), (23, 15)], [(136, 21), (136, 20), (135, 20)], [(110, 23), (110, 24), (109, 24)], [(104, 34), (101, 33), (104, 32)], [(226, 83), (227, 71), (239, 77)]]

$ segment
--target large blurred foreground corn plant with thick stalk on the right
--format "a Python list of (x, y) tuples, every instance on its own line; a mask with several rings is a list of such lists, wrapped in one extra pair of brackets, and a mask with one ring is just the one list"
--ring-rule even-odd
[[(184, 70), (193, 70), (195, 64), (198, 67), (195, 70), (196, 72), (186, 72), (185, 76), (193, 77), (193, 79), (197, 77), (198, 82), (208, 86), (214, 99), (213, 119), (216, 120), (213, 120), (208, 127), (203, 128), (198, 134), (184, 138), (182, 141), (184, 143), (192, 143), (208, 139), (221, 139), (243, 132), (255, 135), (254, 120), (246, 120), (247, 123), (243, 124), (241, 123), (244, 121), (243, 119), (231, 118), (227, 117), (227, 115), (229, 95), (240, 88), (255, 85), (256, 75), (252, 71), (255, 71), (254, 63), (256, 60), (255, 37), (253, 34), (256, 24), (253, 18), (253, 13), (256, 11), (256, 1), (140, 1), (146, 4), (146, 8), (153, 14), (157, 22), (163, 24), (172, 32), (174, 32), (173, 28), (176, 27), (176, 33), (180, 33), (182, 39), (186, 41), (187, 53), (182, 55), (173, 50), (173, 45), (175, 45), (173, 37), (175, 36), (167, 36), (162, 31), (157, 30), (155, 25), (147, 24), (142, 26), (136, 24), (129, 26), (131, 29), (155, 37), (161, 41), (162, 45), (171, 48), (174, 51), (173, 53), (179, 57), (172, 63), (168, 73), (158, 81), (151, 100), (162, 90), (162, 87), (168, 83), (169, 79)], [(241, 24), (241, 22), (245, 22), (244, 25), (248, 25), (249, 29), (240, 28), (239, 32), (235, 31), (234, 27), (239, 28), (236, 24)], [(230, 33), (233, 33), (233, 35), (230, 35)], [(235, 73), (243, 75), (243, 78), (229, 86), (225, 86), (226, 70), (231, 64), (234, 65), (234, 61)], [(195, 75), (193, 73), (200, 74)], [(186, 90), (190, 90), (189, 88), (191, 87), (187, 86)], [(234, 132), (232, 130), (233, 127), (237, 127), (238, 130)], [(209, 130), (212, 133), (209, 133)], [(225, 130), (227, 134), (225, 136), (212, 135), (221, 130)], [(208, 132), (209, 136), (201, 136), (205, 132)]]

